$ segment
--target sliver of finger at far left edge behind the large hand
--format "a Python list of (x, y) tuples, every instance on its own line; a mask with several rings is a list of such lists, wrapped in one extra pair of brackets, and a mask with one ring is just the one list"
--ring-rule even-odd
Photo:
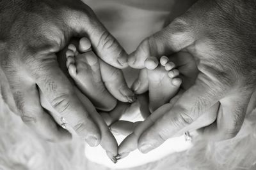
[(0, 67), (0, 97), (3, 99), (4, 103), (7, 104), (8, 108), (15, 114), (18, 114), (17, 106), (13, 99), (13, 94), (10, 89), (9, 82)]

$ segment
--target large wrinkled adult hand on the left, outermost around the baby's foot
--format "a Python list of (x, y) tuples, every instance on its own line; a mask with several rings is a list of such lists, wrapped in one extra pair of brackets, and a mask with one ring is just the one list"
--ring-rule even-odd
[(81, 138), (99, 145), (99, 127), (59, 68), (56, 52), (72, 36), (87, 36), (102, 60), (123, 68), (127, 66), (123, 48), (81, 1), (4, 0), (0, 11), (1, 66), (22, 120), (46, 139), (67, 138), (42, 108), (40, 90)]

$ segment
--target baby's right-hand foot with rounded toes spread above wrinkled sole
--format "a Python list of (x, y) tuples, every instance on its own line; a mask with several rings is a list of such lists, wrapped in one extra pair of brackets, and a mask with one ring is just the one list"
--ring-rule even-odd
[(145, 61), (148, 76), (149, 108), (153, 112), (163, 104), (169, 103), (177, 94), (182, 83), (179, 70), (168, 57), (161, 57), (160, 64), (156, 57), (150, 57)]

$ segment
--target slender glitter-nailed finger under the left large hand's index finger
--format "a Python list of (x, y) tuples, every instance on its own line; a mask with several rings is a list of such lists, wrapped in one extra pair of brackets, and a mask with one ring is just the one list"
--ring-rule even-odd
[(117, 155), (118, 144), (115, 137), (109, 131), (108, 125), (104, 122), (103, 118), (100, 117), (99, 113), (93, 107), (93, 104), (85, 97), (79, 90), (76, 89), (76, 94), (79, 99), (83, 102), (84, 106), (88, 109), (95, 123), (98, 125), (101, 133), (100, 146), (106, 150), (109, 159), (112, 159)]

